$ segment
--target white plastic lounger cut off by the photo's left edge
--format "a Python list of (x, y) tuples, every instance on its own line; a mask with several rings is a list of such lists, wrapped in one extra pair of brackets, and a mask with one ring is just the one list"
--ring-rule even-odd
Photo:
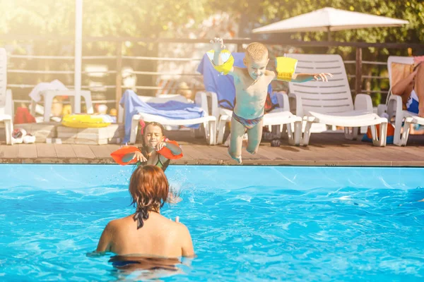
[(13, 101), (11, 90), (7, 87), (7, 58), (6, 50), (0, 48), (0, 122), (4, 123), (6, 144), (12, 145), (13, 131)]

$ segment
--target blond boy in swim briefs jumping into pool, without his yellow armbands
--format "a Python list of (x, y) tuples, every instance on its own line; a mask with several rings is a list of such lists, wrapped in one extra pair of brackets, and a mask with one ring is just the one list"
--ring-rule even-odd
[[(223, 61), (220, 52), (225, 49), (223, 39), (211, 40), (213, 47), (213, 65), (221, 71)], [(247, 152), (256, 154), (262, 137), (262, 121), (264, 119), (264, 108), (268, 85), (273, 80), (306, 82), (309, 80), (328, 81), (330, 73), (298, 73), (291, 78), (282, 78), (278, 72), (266, 70), (269, 62), (268, 49), (261, 43), (251, 43), (245, 51), (243, 59), (247, 68), (230, 66), (224, 74), (232, 75), (235, 84), (235, 107), (231, 118), (230, 157), (242, 163), (242, 140), (247, 130)]]

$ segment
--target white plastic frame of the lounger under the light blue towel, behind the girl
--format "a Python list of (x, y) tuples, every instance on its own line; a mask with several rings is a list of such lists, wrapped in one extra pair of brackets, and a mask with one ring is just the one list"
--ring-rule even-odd
[[(195, 125), (200, 124), (204, 126), (204, 135), (208, 145), (216, 145), (216, 118), (215, 116), (209, 116), (208, 114), (208, 105), (206, 97), (202, 97), (205, 94), (196, 94), (195, 102), (198, 106), (205, 111), (205, 114), (201, 118), (191, 118), (191, 119), (170, 119), (163, 116), (155, 116), (152, 114), (143, 114), (139, 113), (132, 117), (131, 121), (131, 135), (129, 142), (134, 144), (136, 142), (137, 130), (139, 129), (139, 121), (143, 120), (146, 122), (155, 121), (161, 123), (162, 125)], [(189, 103), (189, 100), (179, 94), (163, 94), (158, 97), (147, 97), (139, 96), (143, 102), (151, 103), (165, 103), (170, 100), (175, 100), (179, 102)], [(119, 120), (123, 120), (124, 108), (119, 105)]]

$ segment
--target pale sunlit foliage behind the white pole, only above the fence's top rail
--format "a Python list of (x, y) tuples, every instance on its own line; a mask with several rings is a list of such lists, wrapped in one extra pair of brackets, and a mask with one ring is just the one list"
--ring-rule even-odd
[[(157, 37), (168, 25), (204, 18), (204, 0), (84, 0), (83, 35)], [(0, 32), (72, 36), (73, 0), (0, 0)]]

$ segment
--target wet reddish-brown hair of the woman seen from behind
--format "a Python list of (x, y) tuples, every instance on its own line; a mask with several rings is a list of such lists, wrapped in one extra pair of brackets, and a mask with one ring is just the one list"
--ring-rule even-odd
[(134, 170), (129, 180), (131, 204), (136, 207), (134, 221), (137, 229), (143, 227), (143, 221), (148, 219), (148, 212), (159, 212), (167, 200), (169, 183), (158, 166), (139, 166)]

